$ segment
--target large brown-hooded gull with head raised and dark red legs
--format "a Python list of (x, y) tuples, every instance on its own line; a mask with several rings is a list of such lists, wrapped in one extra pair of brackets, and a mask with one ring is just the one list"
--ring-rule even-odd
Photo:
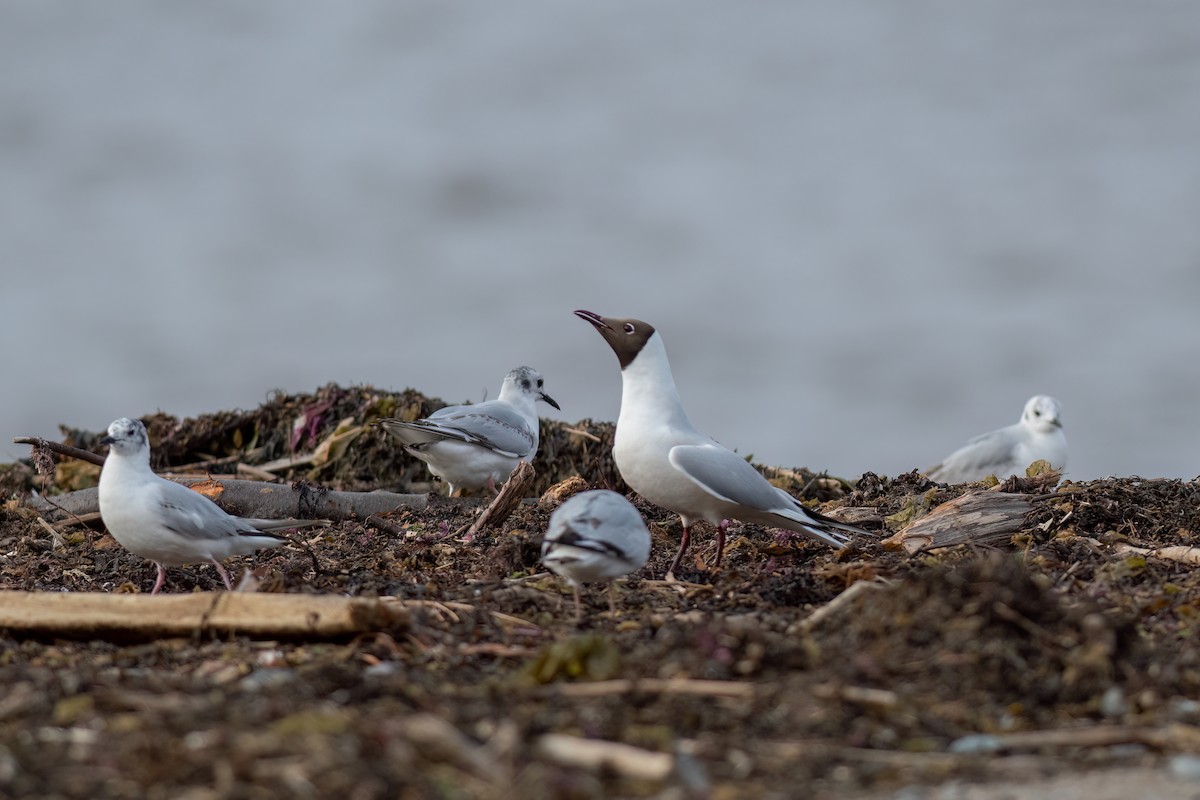
[(697, 429), (683, 410), (662, 337), (640, 319), (611, 319), (590, 311), (575, 314), (590, 323), (620, 362), (620, 414), (613, 459), (622, 479), (650, 503), (679, 515), (683, 537), (667, 571), (674, 577), (697, 521), (716, 525), (721, 565), (730, 519), (785, 528), (832, 547), (866, 531), (806, 509), (767, 482), (744, 458)]

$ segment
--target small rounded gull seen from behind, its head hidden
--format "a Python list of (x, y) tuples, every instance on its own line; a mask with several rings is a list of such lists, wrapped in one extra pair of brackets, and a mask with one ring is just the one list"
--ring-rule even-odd
[(580, 584), (606, 581), (608, 610), (617, 613), (612, 579), (644, 566), (650, 533), (634, 504), (608, 489), (581, 492), (550, 515), (541, 561), (575, 587), (575, 615), (582, 619)]

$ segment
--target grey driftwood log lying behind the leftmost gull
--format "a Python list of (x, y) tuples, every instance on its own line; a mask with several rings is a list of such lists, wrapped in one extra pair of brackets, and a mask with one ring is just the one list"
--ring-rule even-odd
[[(202, 494), (218, 506), (239, 517), (260, 518), (366, 518), (386, 513), (401, 506), (421, 510), (428, 505), (425, 494), (396, 494), (394, 492), (328, 492), (305, 485), (264, 483), (260, 481), (178, 479), (179, 483), (204, 489)], [(68, 492), (52, 499), (34, 498), (30, 505), (49, 513), (61, 509), (68, 515), (83, 516), (100, 511), (100, 494), (95, 488)]]

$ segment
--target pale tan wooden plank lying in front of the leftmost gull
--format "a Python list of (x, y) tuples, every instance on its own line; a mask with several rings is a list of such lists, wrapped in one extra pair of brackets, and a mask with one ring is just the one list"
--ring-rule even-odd
[(120, 640), (192, 634), (336, 639), (395, 631), (408, 621), (403, 606), (379, 597), (0, 591), (0, 630), (13, 634)]

